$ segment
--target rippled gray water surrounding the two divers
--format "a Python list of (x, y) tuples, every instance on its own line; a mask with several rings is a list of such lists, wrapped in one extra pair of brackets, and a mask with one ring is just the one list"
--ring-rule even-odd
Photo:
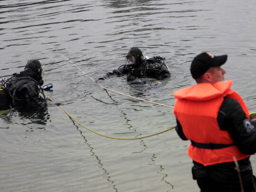
[[(194, 84), (189, 67), (202, 51), (228, 54), (226, 79), (256, 111), (255, 0), (4, 0), (0, 1), (0, 76), (37, 58), (46, 95), (98, 133), (135, 138), (175, 125), (172, 108), (106, 91), (99, 77), (124, 64), (137, 46), (165, 57), (167, 81), (102, 86), (166, 105)], [(0, 115), (0, 192), (198, 192), (189, 142), (174, 130), (139, 140), (94, 134), (48, 101), (45, 110)], [(251, 157), (256, 173), (256, 158)]]

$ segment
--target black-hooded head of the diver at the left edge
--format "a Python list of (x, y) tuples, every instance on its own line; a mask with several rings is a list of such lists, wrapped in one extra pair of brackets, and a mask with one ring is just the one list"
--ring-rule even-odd
[(44, 84), (42, 80), (43, 77), (43, 69), (41, 67), (40, 61), (37, 59), (31, 59), (27, 61), (27, 65), (25, 66), (24, 71), (32, 78), (37, 80), (40, 85)]

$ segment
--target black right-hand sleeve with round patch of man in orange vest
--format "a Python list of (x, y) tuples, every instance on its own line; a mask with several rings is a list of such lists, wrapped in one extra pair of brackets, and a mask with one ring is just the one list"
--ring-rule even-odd
[(221, 130), (229, 132), (240, 152), (254, 154), (256, 152), (256, 129), (246, 117), (237, 100), (224, 98), (219, 109), (218, 123)]

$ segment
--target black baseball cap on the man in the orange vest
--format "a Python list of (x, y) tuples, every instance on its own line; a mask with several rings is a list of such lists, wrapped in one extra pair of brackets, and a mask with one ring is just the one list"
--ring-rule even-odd
[(227, 59), (228, 55), (214, 56), (208, 52), (203, 52), (193, 59), (190, 67), (191, 75), (194, 79), (197, 79), (210, 67), (219, 67), (226, 63)]

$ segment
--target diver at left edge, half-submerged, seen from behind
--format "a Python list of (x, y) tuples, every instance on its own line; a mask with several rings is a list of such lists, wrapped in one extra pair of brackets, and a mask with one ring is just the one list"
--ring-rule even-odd
[[(41, 63), (37, 59), (27, 62), (24, 71), (13, 74), (6, 81), (1, 81), (2, 87), (9, 96), (9, 104), (19, 109), (30, 109), (46, 106), (46, 98), (41, 86), (44, 81)], [(39, 95), (42, 92), (43, 98)]]

